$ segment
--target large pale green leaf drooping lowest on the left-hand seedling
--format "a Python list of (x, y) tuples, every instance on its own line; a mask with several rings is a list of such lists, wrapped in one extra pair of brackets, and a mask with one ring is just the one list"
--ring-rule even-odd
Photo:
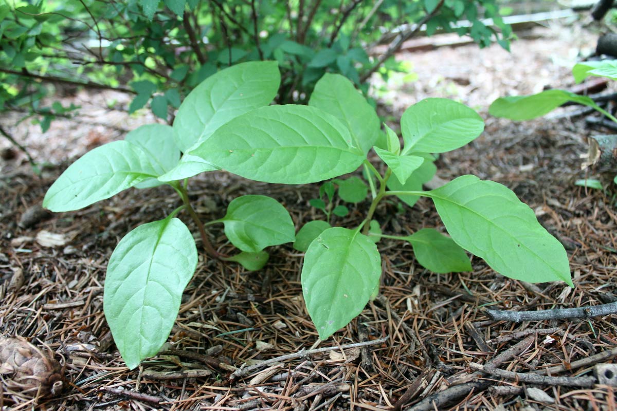
[(103, 308), (131, 370), (167, 341), (196, 267), (193, 235), (177, 218), (143, 224), (116, 246), (107, 264)]

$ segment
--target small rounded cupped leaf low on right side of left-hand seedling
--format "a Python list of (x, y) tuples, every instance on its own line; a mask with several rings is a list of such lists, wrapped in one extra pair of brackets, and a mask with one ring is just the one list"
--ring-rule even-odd
[(295, 240), (296, 228), (285, 208), (265, 195), (243, 195), (227, 207), (220, 219), (230, 242), (247, 253)]

